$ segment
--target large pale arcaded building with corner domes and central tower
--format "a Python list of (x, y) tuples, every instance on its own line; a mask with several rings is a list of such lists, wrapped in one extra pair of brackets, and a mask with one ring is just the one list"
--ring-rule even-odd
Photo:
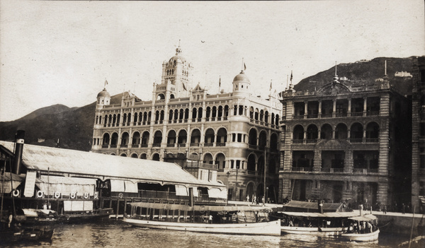
[(199, 179), (227, 184), (228, 199), (262, 198), (266, 190), (266, 198), (277, 201), (278, 95), (252, 95), (244, 70), (234, 77), (231, 93), (209, 95), (199, 84), (192, 88), (192, 68), (179, 47), (162, 64), (152, 100), (128, 92), (111, 105), (109, 93), (101, 91), (91, 150), (178, 163)]

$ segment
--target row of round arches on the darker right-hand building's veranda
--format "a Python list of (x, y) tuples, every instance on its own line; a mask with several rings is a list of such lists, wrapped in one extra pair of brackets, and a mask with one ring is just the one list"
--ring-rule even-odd
[(347, 127), (344, 123), (339, 123), (334, 128), (331, 124), (323, 124), (320, 130), (316, 124), (309, 124), (307, 128), (297, 124), (293, 128), (293, 142), (316, 142), (317, 139), (348, 139), (350, 142), (378, 142), (380, 126), (376, 122), (369, 122), (365, 126), (359, 122), (354, 122)]

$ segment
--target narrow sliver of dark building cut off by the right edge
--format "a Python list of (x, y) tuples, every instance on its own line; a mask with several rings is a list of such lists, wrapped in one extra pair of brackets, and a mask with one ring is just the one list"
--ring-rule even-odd
[(412, 76), (412, 204), (421, 206), (419, 199), (425, 203), (425, 57), (416, 58)]

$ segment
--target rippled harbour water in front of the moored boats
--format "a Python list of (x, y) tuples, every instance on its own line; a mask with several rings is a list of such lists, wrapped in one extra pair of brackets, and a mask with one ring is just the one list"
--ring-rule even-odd
[(0, 247), (397, 247), (408, 237), (380, 235), (378, 243), (340, 242), (327, 237), (310, 235), (249, 236), (217, 235), (135, 228), (116, 220), (97, 223), (53, 225), (52, 242), (5, 244)]

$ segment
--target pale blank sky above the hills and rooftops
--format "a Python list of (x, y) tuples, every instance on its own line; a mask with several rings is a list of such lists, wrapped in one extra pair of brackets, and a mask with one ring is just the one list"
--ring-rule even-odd
[(335, 61), (425, 54), (424, 0), (2, 0), (0, 18), (0, 121), (90, 104), (105, 79), (111, 95), (151, 100), (179, 40), (193, 87), (210, 94), (220, 76), (231, 90), (242, 58), (251, 90), (266, 96), (291, 70), (297, 83)]

